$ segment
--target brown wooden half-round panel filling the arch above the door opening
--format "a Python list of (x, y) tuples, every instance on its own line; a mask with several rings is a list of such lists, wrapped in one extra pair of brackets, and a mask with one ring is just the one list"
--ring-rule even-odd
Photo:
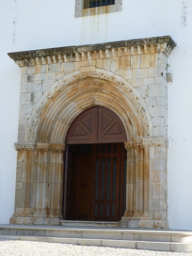
[(66, 135), (66, 144), (113, 141), (126, 141), (125, 128), (113, 111), (101, 106), (82, 112), (73, 121)]

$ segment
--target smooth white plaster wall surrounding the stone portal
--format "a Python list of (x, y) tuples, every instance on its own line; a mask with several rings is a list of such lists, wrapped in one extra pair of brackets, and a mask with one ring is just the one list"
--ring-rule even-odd
[(122, 3), (122, 12), (75, 18), (75, 0), (0, 1), (0, 223), (13, 213), (20, 86), (6, 53), (171, 35), (178, 46), (169, 61), (168, 214), (170, 228), (192, 230), (192, 1)]

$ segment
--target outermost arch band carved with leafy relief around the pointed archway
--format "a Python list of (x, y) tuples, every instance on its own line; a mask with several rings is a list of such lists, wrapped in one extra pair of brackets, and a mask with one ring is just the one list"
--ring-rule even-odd
[[(117, 76), (116, 74), (114, 76), (110, 76), (109, 74), (106, 74), (106, 72), (105, 73), (104, 72), (86, 72), (86, 73), (84, 72), (84, 73), (78, 73), (78, 74), (77, 72), (74, 72), (75, 74), (74, 73), (68, 74), (67, 76), (57, 81), (54, 85), (52, 85), (43, 94), (38, 104), (32, 111), (33, 120), (28, 131), (28, 138), (26, 138), (26, 140), (28, 141), (35, 140), (38, 123), (41, 120), (40, 115), (44, 107), (46, 106), (46, 104), (49, 102), (49, 100), (52, 99), (57, 92), (62, 91), (62, 88), (66, 86), (70, 86), (70, 84), (74, 84), (77, 81), (80, 81), (80, 80), (82, 81), (88, 78), (100, 79), (101, 82), (103, 80), (112, 82), (114, 85), (119, 87), (119, 90), (121, 90), (122, 92), (124, 91), (124, 94), (126, 95), (126, 97), (128, 97), (131, 100), (131, 102), (134, 104), (136, 112), (139, 114), (138, 117), (140, 116), (140, 120), (142, 120), (141, 123), (143, 124), (144, 136), (148, 137), (150, 135), (148, 118), (150, 117), (147, 116), (144, 110), (144, 107), (140, 102), (141, 97), (140, 99), (138, 98), (139, 95), (138, 96), (136, 95), (136, 91), (133, 91), (134, 88), (128, 81), (126, 81), (120, 76)], [(111, 72), (108, 72), (108, 73), (111, 73)]]

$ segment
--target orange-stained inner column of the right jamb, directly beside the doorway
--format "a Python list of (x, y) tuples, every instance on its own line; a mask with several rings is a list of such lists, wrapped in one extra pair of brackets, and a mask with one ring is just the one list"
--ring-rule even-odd
[(126, 210), (121, 226), (138, 228), (143, 215), (143, 144), (142, 140), (125, 142), (127, 150)]

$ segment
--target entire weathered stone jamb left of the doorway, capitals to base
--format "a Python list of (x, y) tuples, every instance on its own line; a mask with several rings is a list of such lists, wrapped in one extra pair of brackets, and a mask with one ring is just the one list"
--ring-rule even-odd
[[(15, 201), (15, 210), (10, 223), (59, 225), (59, 220), (63, 218), (61, 210), (65, 144), (15, 142), (14, 147), (18, 151), (17, 180), (22, 186), (16, 187), (16, 197), (19, 193), (21, 198), (20, 201), (19, 198)], [(21, 175), (23, 178), (18, 178)], [(60, 193), (58, 201), (51, 202), (51, 198), (57, 198), (53, 194), (57, 194), (58, 191)]]

